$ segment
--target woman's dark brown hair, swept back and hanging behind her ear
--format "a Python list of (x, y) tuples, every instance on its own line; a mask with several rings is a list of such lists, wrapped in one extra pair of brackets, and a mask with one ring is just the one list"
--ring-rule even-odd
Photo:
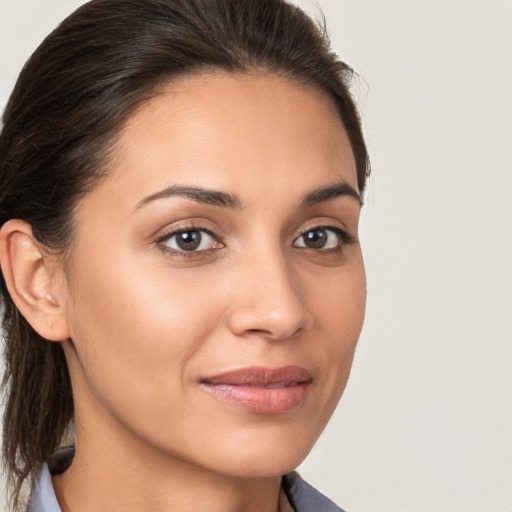
[[(353, 71), (317, 24), (284, 0), (93, 0), (65, 19), (24, 66), (0, 134), (0, 226), (32, 226), (65, 254), (73, 210), (105, 174), (134, 110), (165, 83), (201, 71), (275, 74), (333, 100), (354, 153), (360, 192), (369, 158), (349, 93)], [(2, 285), (3, 461), (14, 508), (24, 482), (60, 445), (73, 396), (59, 343), (39, 336)]]

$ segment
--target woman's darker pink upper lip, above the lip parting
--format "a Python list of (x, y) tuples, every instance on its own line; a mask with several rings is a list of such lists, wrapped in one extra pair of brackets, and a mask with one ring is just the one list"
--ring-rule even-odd
[(300, 366), (265, 368), (251, 366), (202, 379), (206, 384), (231, 386), (268, 386), (271, 384), (296, 385), (311, 381), (311, 373)]

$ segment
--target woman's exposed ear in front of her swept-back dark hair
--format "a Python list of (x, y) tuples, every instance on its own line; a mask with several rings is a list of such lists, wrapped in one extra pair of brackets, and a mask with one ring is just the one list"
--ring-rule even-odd
[(43, 338), (69, 338), (61, 264), (34, 238), (30, 224), (11, 219), (0, 230), (0, 264), (9, 294)]

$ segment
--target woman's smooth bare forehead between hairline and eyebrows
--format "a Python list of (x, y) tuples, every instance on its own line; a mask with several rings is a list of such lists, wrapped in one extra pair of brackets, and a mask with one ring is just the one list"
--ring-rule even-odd
[(123, 208), (175, 183), (269, 199), (340, 179), (357, 189), (334, 102), (273, 75), (203, 73), (167, 84), (128, 119), (114, 153), (100, 189), (110, 201), (109, 188), (123, 190)]

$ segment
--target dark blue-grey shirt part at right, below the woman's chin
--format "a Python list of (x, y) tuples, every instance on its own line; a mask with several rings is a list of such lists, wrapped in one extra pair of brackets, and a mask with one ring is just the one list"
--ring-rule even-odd
[(345, 512), (295, 471), (283, 476), (283, 489), (296, 512)]

